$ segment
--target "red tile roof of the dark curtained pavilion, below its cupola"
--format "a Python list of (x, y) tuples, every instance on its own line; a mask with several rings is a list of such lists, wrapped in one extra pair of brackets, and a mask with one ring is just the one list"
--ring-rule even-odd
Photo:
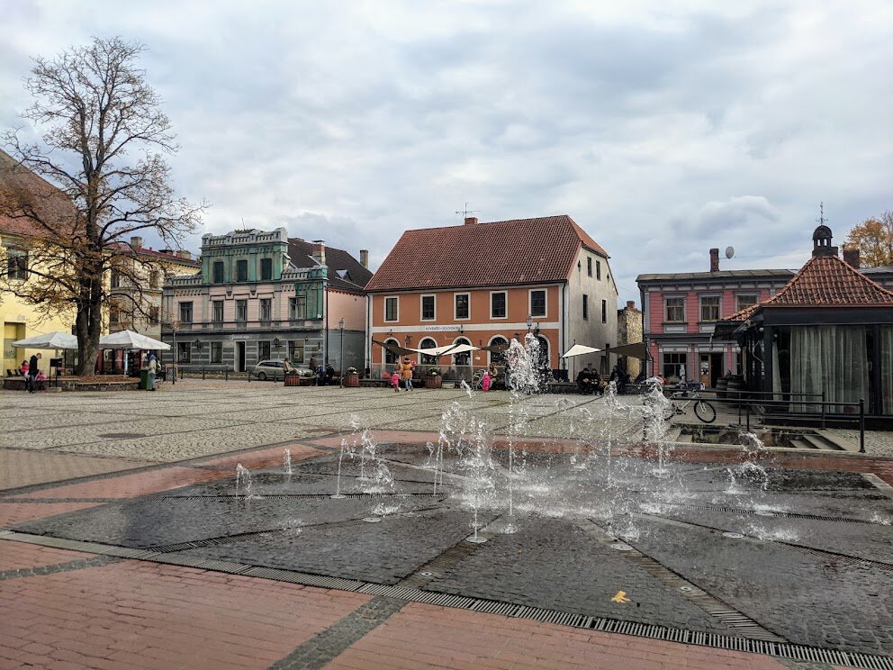
[(762, 303), (735, 312), (724, 321), (746, 321), (762, 307), (891, 307), (893, 293), (836, 256), (814, 256)]

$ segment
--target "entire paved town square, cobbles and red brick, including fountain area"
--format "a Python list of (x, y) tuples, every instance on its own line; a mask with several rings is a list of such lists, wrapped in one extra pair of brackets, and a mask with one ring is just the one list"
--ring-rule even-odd
[(664, 459), (618, 401), (4, 392), (0, 667), (893, 667), (886, 434)]

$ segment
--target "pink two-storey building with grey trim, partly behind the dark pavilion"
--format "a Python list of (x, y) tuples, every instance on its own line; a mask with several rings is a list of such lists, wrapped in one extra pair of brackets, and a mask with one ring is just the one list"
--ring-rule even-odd
[(713, 341), (717, 321), (774, 295), (792, 270), (720, 270), (719, 249), (710, 249), (709, 272), (639, 275), (648, 375), (716, 385), (731, 371), (742, 374), (735, 342)]

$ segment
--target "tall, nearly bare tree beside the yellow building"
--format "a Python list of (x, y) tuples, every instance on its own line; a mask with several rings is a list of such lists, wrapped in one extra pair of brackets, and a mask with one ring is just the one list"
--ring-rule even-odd
[(74, 307), (81, 375), (93, 371), (110, 271), (137, 296), (145, 282), (145, 260), (127, 262), (137, 260), (130, 236), (153, 231), (178, 249), (205, 208), (171, 186), (163, 154), (176, 152), (175, 137), (136, 67), (143, 50), (120, 38), (94, 39), (56, 59), (35, 59), (26, 80), (34, 103), (23, 118), (43, 131), (43, 144), (5, 134), (14, 165), (6, 166), (12, 178), (0, 188), (0, 216), (26, 229), (32, 244), (28, 280), (4, 287), (44, 313)]

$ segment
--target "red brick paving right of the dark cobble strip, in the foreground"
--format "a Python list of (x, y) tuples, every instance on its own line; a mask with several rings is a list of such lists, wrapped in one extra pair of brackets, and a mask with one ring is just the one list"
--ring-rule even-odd
[(411, 603), (348, 648), (327, 670), (372, 668), (748, 668), (780, 670), (768, 656), (568, 629), (494, 614)]

